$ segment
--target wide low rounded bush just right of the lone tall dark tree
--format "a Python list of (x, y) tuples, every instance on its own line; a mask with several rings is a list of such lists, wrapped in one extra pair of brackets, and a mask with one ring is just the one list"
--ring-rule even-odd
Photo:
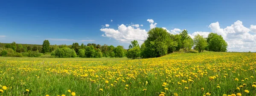
[(59, 58), (70, 58), (76, 57), (76, 51), (71, 48), (57, 48), (54, 52), (51, 53), (51, 55)]

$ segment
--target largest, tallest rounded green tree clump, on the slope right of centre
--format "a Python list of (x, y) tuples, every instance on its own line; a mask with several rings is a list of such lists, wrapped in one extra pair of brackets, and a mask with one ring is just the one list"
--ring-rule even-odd
[(177, 47), (174, 36), (163, 28), (153, 28), (148, 31), (148, 38), (141, 48), (143, 58), (153, 58), (171, 53)]

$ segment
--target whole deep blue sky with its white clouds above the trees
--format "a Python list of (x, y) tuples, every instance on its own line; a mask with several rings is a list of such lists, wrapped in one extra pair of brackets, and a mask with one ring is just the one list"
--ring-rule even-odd
[(79, 42), (128, 48), (132, 39), (145, 40), (144, 31), (154, 20), (154, 27), (173, 34), (179, 32), (174, 29), (186, 29), (192, 37), (214, 32), (229, 40), (229, 51), (256, 51), (255, 4), (255, 0), (4, 0), (0, 42), (42, 44), (48, 39), (57, 45)]

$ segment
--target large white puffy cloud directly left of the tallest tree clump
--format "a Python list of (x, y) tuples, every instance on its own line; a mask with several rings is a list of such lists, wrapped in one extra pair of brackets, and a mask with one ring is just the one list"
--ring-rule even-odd
[(103, 31), (103, 37), (110, 37), (118, 42), (130, 43), (133, 40), (137, 40), (140, 44), (147, 39), (147, 31), (145, 29), (134, 28), (132, 26), (120, 25), (117, 30), (113, 28), (101, 28)]

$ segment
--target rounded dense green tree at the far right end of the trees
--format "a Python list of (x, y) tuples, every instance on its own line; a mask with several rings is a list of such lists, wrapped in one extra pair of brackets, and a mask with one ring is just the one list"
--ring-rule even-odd
[(227, 42), (221, 35), (210, 33), (207, 37), (207, 50), (215, 52), (226, 52)]

